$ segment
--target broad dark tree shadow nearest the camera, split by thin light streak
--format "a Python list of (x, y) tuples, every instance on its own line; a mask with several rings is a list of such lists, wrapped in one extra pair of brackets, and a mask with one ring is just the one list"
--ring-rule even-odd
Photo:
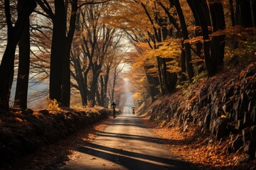
[[(106, 159), (110, 162), (124, 166), (127, 169), (191, 169), (190, 164), (176, 159), (166, 159), (148, 154), (129, 152), (123, 149), (105, 147), (90, 142), (85, 143), (85, 145), (80, 147), (78, 151), (94, 157)], [(85, 169), (87, 168), (85, 167)]]

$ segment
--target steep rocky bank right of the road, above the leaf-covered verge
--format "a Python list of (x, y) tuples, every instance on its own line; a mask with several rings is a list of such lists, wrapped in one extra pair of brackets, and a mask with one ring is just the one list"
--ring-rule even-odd
[(161, 126), (191, 123), (217, 140), (229, 140), (225, 152), (243, 150), (256, 157), (256, 63), (233, 69), (179, 90), (151, 107), (151, 120)]

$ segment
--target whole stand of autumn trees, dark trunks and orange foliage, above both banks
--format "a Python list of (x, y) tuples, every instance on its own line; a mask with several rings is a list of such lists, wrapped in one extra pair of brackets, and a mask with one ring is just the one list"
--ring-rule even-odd
[[(197, 77), (255, 60), (255, 2), (205, 0), (0, 1), (0, 107), (27, 108), (28, 82), (70, 107), (173, 93)], [(18, 46), (17, 46), (18, 45)], [(120, 76), (122, 75), (122, 76)], [(43, 96), (42, 95), (42, 96)], [(13, 106), (11, 106), (13, 107)]]

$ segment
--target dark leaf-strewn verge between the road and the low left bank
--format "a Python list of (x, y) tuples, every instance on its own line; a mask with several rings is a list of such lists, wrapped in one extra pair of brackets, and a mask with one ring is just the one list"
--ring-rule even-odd
[(107, 118), (107, 120), (102, 120), (94, 125), (88, 125), (64, 140), (41, 147), (33, 154), (23, 156), (4, 167), (0, 166), (0, 169), (55, 169), (55, 166), (70, 159), (70, 155), (73, 155), (75, 149), (83, 142), (91, 142), (95, 139), (97, 132), (105, 130), (110, 121), (111, 119)]

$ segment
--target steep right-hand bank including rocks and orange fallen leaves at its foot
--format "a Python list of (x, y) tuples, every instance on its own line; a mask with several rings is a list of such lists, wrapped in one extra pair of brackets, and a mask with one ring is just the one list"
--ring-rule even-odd
[[(255, 168), (256, 63), (163, 96), (148, 109), (156, 133), (190, 162), (213, 169)], [(250, 161), (252, 160), (252, 161)], [(205, 167), (206, 166), (206, 167)]]

